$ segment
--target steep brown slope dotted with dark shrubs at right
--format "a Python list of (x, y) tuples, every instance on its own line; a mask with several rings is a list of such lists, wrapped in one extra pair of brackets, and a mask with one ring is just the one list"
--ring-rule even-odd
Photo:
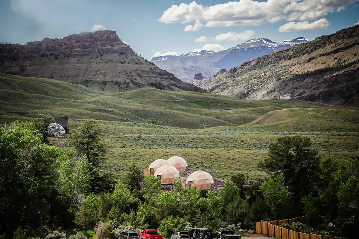
[(209, 92), (258, 100), (292, 98), (359, 105), (359, 25), (245, 62), (195, 82)]

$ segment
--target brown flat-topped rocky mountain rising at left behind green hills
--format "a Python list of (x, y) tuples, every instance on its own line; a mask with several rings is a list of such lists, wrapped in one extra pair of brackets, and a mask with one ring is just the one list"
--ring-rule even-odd
[(115, 31), (44, 38), (26, 45), (0, 44), (0, 71), (82, 84), (98, 92), (144, 87), (205, 92), (138, 56)]

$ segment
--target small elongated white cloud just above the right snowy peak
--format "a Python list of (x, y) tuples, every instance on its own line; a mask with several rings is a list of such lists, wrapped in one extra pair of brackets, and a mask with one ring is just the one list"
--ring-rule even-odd
[(279, 32), (298, 32), (303, 30), (317, 30), (317, 29), (328, 29), (330, 22), (326, 18), (322, 18), (317, 21), (294, 21), (286, 23), (279, 27)]

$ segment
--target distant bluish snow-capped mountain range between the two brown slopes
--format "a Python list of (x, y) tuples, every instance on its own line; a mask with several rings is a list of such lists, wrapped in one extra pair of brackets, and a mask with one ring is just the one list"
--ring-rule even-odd
[(202, 50), (200, 52), (185, 53), (180, 56), (153, 57), (151, 62), (155, 63), (159, 68), (173, 73), (180, 80), (188, 82), (194, 80), (196, 73), (202, 73), (203, 76), (212, 78), (220, 69), (228, 70), (265, 54), (308, 41), (304, 37), (283, 42), (256, 38), (219, 52)]

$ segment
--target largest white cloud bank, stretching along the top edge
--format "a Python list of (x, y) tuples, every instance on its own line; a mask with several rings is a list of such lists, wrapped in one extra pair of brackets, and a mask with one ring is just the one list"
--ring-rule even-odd
[[(172, 5), (164, 11), (159, 21), (163, 23), (204, 23), (201, 27), (251, 26), (262, 23), (317, 20), (359, 0), (257, 0), (229, 1), (212, 6), (190, 4)], [(186, 31), (199, 30), (196, 24), (187, 25)]]

